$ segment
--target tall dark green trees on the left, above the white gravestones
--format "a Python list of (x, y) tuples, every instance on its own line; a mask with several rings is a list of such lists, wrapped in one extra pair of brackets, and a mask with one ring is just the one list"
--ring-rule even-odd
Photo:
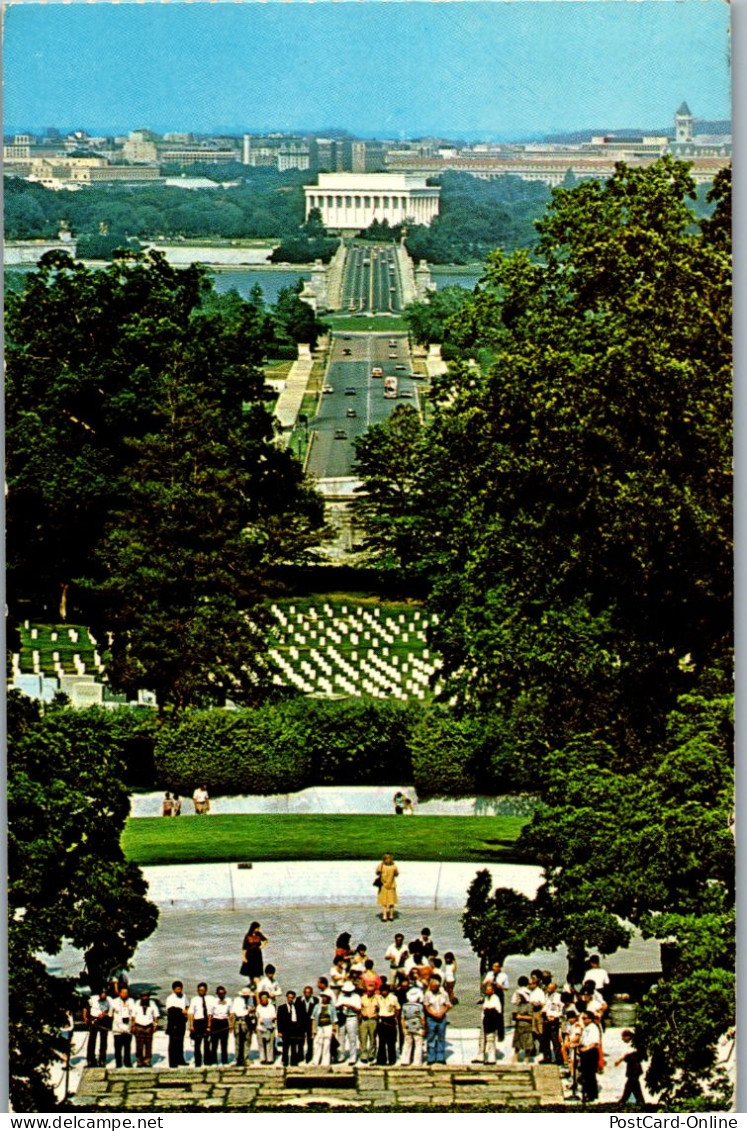
[(157, 254), (51, 253), (7, 322), (11, 610), (83, 611), (113, 681), (177, 706), (255, 693), (267, 570), (321, 517), (261, 403), (272, 318), (208, 293)]

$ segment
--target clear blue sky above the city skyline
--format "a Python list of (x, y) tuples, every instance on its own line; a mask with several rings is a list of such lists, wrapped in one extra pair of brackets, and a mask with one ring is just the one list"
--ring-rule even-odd
[(730, 116), (723, 0), (20, 3), (5, 130), (521, 137)]

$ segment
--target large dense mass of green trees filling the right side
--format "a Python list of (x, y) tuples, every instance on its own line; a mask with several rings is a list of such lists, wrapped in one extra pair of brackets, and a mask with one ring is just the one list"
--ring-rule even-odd
[[(724, 171), (698, 222), (671, 159), (556, 190), (535, 254), (491, 256), (445, 325), (461, 360), (398, 451), (405, 507), (381, 486), (394, 425), (359, 444), (370, 538), (429, 580), (445, 696), (492, 718), (487, 742), (461, 728), (461, 763), (512, 757), (544, 792), (536, 899), (483, 878), (466, 933), (483, 955), (563, 942), (575, 976), (632, 924), (671, 934), (641, 1041), (678, 1102), (732, 1024), (729, 193)], [(703, 1043), (676, 1036), (688, 996)]]

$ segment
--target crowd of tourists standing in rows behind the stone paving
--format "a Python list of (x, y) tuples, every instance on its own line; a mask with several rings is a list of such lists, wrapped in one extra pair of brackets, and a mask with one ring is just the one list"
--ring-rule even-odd
[[(233, 1038), (234, 1062), (248, 1063), (256, 1050), (260, 1064), (302, 1062), (327, 1065), (420, 1065), (446, 1062), (448, 1012), (455, 1004), (457, 961), (439, 955), (428, 927), (410, 942), (394, 935), (376, 969), (364, 943), (353, 947), (347, 932), (337, 939), (328, 974), (298, 993), (283, 991), (277, 970), (263, 961), (267, 940), (252, 923), (242, 947), (241, 970), (247, 978), (229, 996), (225, 986), (209, 992), (199, 983), (187, 995), (174, 982), (162, 1010), (147, 991), (130, 998), (124, 984), (112, 984), (89, 999), (85, 1020), (89, 1028), (87, 1061), (104, 1065), (109, 1035), (118, 1068), (132, 1064), (132, 1042), (138, 1067), (151, 1064), (153, 1036), (162, 1021), (169, 1037), (169, 1064), (187, 1063), (184, 1043), (194, 1048), (194, 1065), (227, 1064)], [(579, 987), (560, 987), (549, 970), (532, 970), (517, 979), (510, 993), (508, 978), (496, 961), (481, 983), (481, 1025), (478, 1060), (496, 1063), (499, 1045), (513, 1026), (515, 1061), (555, 1063), (579, 1082), (587, 1102), (598, 1098), (598, 1073), (603, 1070), (603, 1031), (609, 1010), (609, 976), (595, 956)], [(625, 1099), (641, 1095), (641, 1063), (630, 1043), (625, 1059)], [(626, 1035), (624, 1034), (624, 1039)]]

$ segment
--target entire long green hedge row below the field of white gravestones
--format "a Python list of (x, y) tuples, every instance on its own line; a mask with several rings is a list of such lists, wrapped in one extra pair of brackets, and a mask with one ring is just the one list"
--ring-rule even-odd
[(194, 711), (161, 729), (155, 766), (157, 784), (181, 794), (198, 782), (214, 795), (412, 782), (421, 798), (536, 785), (501, 748), (489, 718), (396, 700), (294, 699)]

